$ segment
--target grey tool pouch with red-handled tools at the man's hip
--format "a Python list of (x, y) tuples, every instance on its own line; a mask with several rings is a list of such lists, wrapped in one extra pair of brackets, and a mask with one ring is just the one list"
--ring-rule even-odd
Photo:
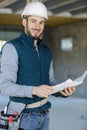
[[(7, 110), (0, 112), (0, 130), (23, 130), (19, 128), (19, 124), (24, 108), (25, 104), (10, 101), (7, 105)], [(10, 117), (12, 118), (12, 122), (10, 122)]]

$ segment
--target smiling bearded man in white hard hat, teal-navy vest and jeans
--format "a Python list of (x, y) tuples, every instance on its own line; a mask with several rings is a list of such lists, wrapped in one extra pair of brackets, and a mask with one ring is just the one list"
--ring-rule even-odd
[[(39, 38), (47, 19), (45, 5), (27, 4), (22, 13), (24, 32), (2, 50), (1, 92), (14, 103), (26, 104), (19, 125), (24, 130), (49, 130), (51, 103), (47, 98), (55, 81), (53, 61), (50, 49)], [(74, 91), (70, 87), (60, 93), (69, 96)]]

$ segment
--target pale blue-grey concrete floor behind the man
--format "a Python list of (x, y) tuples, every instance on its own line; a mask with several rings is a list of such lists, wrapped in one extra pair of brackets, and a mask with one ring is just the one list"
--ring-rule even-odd
[[(4, 109), (8, 97), (0, 95), (0, 110)], [(50, 130), (87, 130), (87, 100), (80, 98), (49, 97)]]

